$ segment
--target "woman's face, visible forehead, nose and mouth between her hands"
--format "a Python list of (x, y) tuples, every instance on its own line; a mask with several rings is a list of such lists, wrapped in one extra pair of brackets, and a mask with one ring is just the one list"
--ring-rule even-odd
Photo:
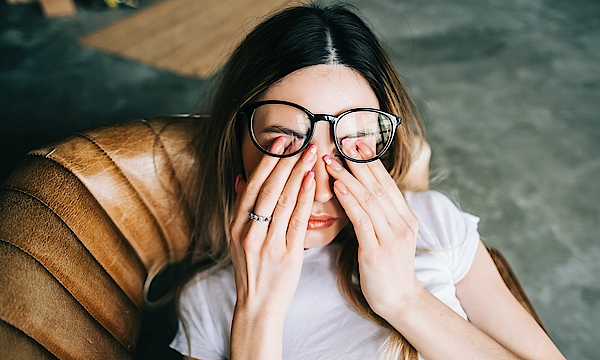
[[(300, 69), (271, 86), (260, 100), (285, 100), (305, 107), (313, 114), (339, 115), (360, 107), (379, 109), (379, 101), (367, 81), (343, 65), (315, 65)], [(324, 155), (337, 156), (330, 124), (317, 123), (312, 143), (318, 147), (315, 173), (315, 199), (308, 222), (305, 248), (329, 244), (348, 223), (344, 210), (334, 197), (332, 181), (325, 170)], [(264, 155), (246, 132), (242, 159), (246, 178)], [(338, 159), (341, 159), (338, 156)]]

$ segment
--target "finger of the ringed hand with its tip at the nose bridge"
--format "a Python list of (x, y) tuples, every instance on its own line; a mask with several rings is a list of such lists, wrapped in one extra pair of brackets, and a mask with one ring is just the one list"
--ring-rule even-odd
[[(305, 180), (307, 172), (309, 172), (315, 165), (317, 161), (317, 146), (311, 144), (302, 154), (302, 158), (297, 162), (296, 166), (292, 170), (289, 179), (287, 180), (285, 187), (281, 191), (275, 209), (273, 210), (273, 218), (271, 229), (273, 229), (273, 234), (285, 234), (288, 231), (290, 218), (292, 217), (292, 213), (294, 209), (297, 207), (297, 203), (299, 201), (299, 193), (303, 181)], [(270, 181), (271, 179), (267, 180)], [(314, 180), (314, 174), (313, 174)], [(311, 201), (314, 198), (311, 199)], [(259, 198), (259, 201), (261, 199)], [(259, 205), (262, 208), (262, 203), (257, 203), (257, 208)], [(312, 204), (311, 204), (312, 206)], [(261, 210), (262, 211), (262, 210)], [(310, 215), (310, 209), (308, 210)], [(307, 220), (308, 222), (308, 220)], [(304, 224), (306, 227), (307, 224)]]

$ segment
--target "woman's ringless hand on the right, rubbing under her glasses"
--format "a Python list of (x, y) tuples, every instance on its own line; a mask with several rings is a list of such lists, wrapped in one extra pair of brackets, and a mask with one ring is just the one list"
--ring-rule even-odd
[[(357, 150), (365, 158), (371, 151), (364, 142)], [(384, 319), (397, 314), (423, 290), (414, 270), (419, 222), (381, 161), (348, 161), (350, 173), (329, 155), (323, 160), (358, 238), (362, 292)]]

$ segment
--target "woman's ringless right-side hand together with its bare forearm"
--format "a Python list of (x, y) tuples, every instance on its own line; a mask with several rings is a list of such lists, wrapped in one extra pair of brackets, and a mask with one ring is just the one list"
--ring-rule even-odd
[[(364, 143), (357, 150), (370, 151)], [(324, 160), (335, 179), (336, 196), (354, 224), (360, 285), (373, 311), (429, 360), (517, 358), (419, 284), (414, 272), (418, 220), (383, 165), (379, 161), (348, 164), (350, 173), (332, 157)], [(485, 277), (481, 279), (485, 282)], [(472, 285), (487, 301), (487, 288)]]

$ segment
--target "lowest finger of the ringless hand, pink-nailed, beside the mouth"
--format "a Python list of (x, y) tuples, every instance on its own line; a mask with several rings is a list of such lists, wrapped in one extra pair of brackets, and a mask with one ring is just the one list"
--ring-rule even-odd
[(375, 252), (379, 248), (379, 241), (369, 214), (363, 210), (356, 197), (350, 193), (341, 180), (333, 183), (333, 191), (354, 226), (358, 246), (368, 253)]

